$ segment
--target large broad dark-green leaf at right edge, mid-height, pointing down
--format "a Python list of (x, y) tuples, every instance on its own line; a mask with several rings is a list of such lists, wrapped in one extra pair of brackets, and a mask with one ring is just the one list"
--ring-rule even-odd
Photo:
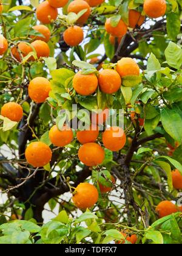
[(161, 122), (164, 130), (174, 138), (175, 141), (181, 143), (182, 140), (182, 119), (181, 116), (175, 112), (175, 110), (169, 108), (163, 108), (161, 110)]

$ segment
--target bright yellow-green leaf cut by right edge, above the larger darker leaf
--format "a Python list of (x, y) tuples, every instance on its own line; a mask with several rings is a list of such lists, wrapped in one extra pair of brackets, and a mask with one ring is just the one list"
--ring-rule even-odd
[(178, 44), (170, 41), (165, 52), (166, 61), (169, 66), (172, 68), (179, 69), (182, 65), (182, 49)]

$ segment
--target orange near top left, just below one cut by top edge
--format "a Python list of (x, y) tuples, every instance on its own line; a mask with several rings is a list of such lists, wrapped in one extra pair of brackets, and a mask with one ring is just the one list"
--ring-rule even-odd
[(36, 9), (36, 17), (43, 24), (55, 21), (57, 16), (58, 10), (52, 7), (48, 1), (41, 2)]

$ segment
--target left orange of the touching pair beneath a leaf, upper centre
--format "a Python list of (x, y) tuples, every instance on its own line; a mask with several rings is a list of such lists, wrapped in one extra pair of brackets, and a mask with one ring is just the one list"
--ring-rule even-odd
[[(77, 0), (75, 0), (77, 1)], [(87, 96), (95, 92), (98, 87), (98, 79), (95, 74), (81, 74), (81, 71), (75, 74), (73, 78), (73, 88), (76, 93)]]

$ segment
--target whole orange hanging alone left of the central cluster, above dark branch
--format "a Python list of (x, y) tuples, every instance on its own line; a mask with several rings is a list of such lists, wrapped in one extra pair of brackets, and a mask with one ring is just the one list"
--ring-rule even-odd
[(29, 97), (36, 103), (44, 102), (49, 97), (50, 90), (50, 82), (45, 77), (35, 77), (28, 87)]

